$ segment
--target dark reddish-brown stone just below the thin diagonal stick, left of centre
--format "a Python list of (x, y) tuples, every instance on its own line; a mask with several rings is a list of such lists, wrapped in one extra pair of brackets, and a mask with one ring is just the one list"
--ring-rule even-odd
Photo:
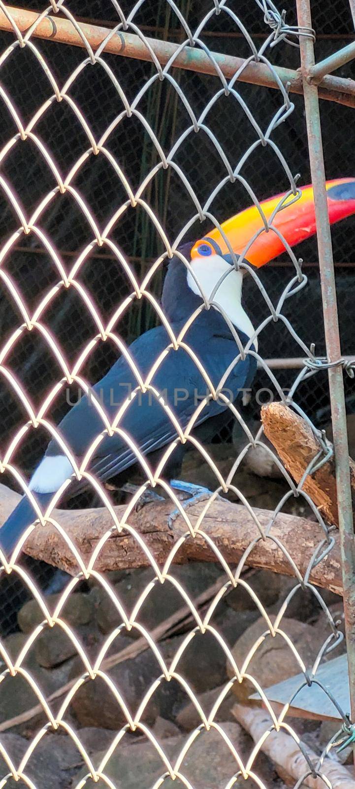
[[(112, 652), (118, 652), (127, 645), (131, 645), (131, 640), (126, 636), (120, 635), (115, 639)], [(71, 677), (80, 675), (83, 672), (83, 664), (80, 657), (74, 658)], [(124, 660), (105, 671), (105, 674), (114, 683), (117, 693), (124, 699), (131, 715), (134, 716), (136, 710), (142, 702), (146, 691), (150, 688), (154, 679), (161, 674), (161, 667), (150, 649), (136, 656), (134, 660)], [(98, 726), (107, 729), (118, 729), (127, 724), (127, 718), (117, 700), (113, 690), (102, 677), (88, 679), (84, 682), (72, 698), (71, 709), (76, 716), (80, 726)], [(142, 720), (148, 724), (153, 724), (158, 714), (157, 705), (150, 699)]]

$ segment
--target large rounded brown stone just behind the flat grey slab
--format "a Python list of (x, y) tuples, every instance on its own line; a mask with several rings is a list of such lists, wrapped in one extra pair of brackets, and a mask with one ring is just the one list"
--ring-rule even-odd
[[(270, 620), (274, 623), (275, 616), (271, 615)], [(297, 619), (284, 617), (279, 627), (290, 638), (305, 666), (311, 669), (320, 647), (324, 644), (324, 623), (311, 626), (304, 622), (298, 622)], [(268, 626), (264, 617), (260, 617), (236, 641), (231, 653), (239, 669), (258, 638), (265, 632), (268, 632)], [(275, 682), (282, 682), (283, 679), (299, 674), (301, 668), (283, 636), (276, 634), (275, 638), (272, 638), (268, 633), (253, 654), (245, 671), (252, 675), (262, 688), (267, 688), (274, 685)], [(227, 675), (230, 679), (235, 675), (229, 660), (227, 660)], [(244, 679), (241, 683), (235, 682), (232, 690), (239, 701), (245, 704), (250, 695), (255, 692), (255, 687), (250, 680)]]

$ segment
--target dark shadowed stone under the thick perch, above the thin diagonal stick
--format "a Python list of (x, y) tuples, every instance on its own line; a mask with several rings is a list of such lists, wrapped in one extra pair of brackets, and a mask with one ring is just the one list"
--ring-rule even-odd
[[(179, 584), (183, 586), (183, 589), (187, 591), (193, 600), (205, 589), (208, 589), (222, 573), (223, 570), (220, 564), (205, 562), (173, 565), (169, 571), (169, 574), (179, 581)], [(120, 600), (120, 604), (128, 616), (131, 615), (131, 611), (135, 607), (139, 596), (153, 578), (153, 569), (146, 567), (132, 570), (130, 574), (124, 576), (114, 586), (117, 599)], [(123, 621), (120, 612), (103, 587), (95, 587), (91, 594), (94, 594), (94, 607), (96, 608), (98, 627), (104, 634), (111, 633)], [(183, 605), (185, 605), (185, 600), (183, 600), (178, 589), (171, 581), (167, 580), (162, 585), (157, 581), (142, 603), (136, 619), (150, 632), (159, 623), (167, 619), (168, 616), (182, 608)], [(137, 628), (133, 627), (128, 635), (131, 638), (139, 638), (141, 633)]]

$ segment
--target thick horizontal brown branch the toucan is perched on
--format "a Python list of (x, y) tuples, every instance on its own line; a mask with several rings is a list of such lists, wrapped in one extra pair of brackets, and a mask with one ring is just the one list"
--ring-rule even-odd
[[(19, 495), (0, 485), (0, 522), (3, 522), (9, 515), (18, 499)], [(201, 502), (189, 508), (188, 514), (193, 524), (204, 507), (205, 502)], [(120, 506), (114, 509), (117, 517), (121, 518), (126, 507)], [(181, 517), (176, 518), (173, 529), (168, 528), (168, 514), (171, 510), (172, 502), (167, 500), (162, 503), (146, 504), (138, 513), (132, 512), (128, 518), (129, 525), (142, 537), (160, 567), (168, 558), (176, 540), (187, 533), (187, 526)], [(253, 509), (253, 513), (258, 518), (263, 530), (270, 525), (273, 517), (271, 511), (256, 507)], [(52, 517), (56, 518), (65, 529), (65, 533), (76, 545), (86, 565), (98, 540), (113, 526), (113, 520), (106, 508), (54, 510)], [(244, 505), (231, 503), (225, 499), (217, 499), (205, 514), (200, 533), (194, 538), (187, 536), (187, 539), (180, 545), (174, 561), (178, 563), (193, 560), (218, 561), (213, 549), (204, 539), (204, 534), (213, 540), (213, 544), (231, 566), (235, 566), (246, 548), (249, 548), (250, 543), (260, 537), (257, 525)], [(283, 545), (285, 552), (272, 538)], [(324, 533), (318, 522), (296, 515), (279, 513), (275, 518), (275, 523), (272, 524), (270, 537), (257, 541), (253, 550), (247, 555), (246, 565), (264, 567), (276, 573), (294, 576), (294, 567), (287, 559), (287, 552), (303, 576), (316, 546), (323, 538)], [(51, 525), (47, 525), (45, 528), (36, 528), (28, 537), (24, 551), (35, 559), (43, 559), (72, 575), (79, 570), (72, 550), (61, 534)], [(123, 529), (121, 533), (118, 531), (111, 533), (99, 552), (94, 569), (122, 570), (144, 567), (149, 563), (149, 559), (135, 535), (129, 533), (127, 529)], [(312, 570), (310, 581), (324, 589), (331, 589), (337, 594), (342, 594), (338, 534), (335, 546), (329, 555)]]

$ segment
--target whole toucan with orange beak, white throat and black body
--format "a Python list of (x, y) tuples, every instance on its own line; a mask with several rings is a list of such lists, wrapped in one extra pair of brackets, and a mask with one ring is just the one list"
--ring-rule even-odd
[[(291, 247), (316, 232), (312, 186), (298, 191), (298, 200), (290, 193), (264, 200), (179, 248), (161, 296), (166, 325), (135, 339), (65, 415), (0, 529), (0, 560), (10, 558), (27, 529), (40, 528), (39, 513), (49, 517), (54, 502), (93, 479), (102, 484), (129, 473), (137, 457), (151, 469), (147, 457), (172, 442), (179, 447), (187, 428), (228, 414), (229, 402), (250, 387), (257, 331), (242, 306), (242, 279), (283, 252), (285, 242)], [(327, 198), (331, 222), (355, 213), (355, 180), (328, 181)], [(217, 396), (221, 383), (231, 392), (227, 400)]]

